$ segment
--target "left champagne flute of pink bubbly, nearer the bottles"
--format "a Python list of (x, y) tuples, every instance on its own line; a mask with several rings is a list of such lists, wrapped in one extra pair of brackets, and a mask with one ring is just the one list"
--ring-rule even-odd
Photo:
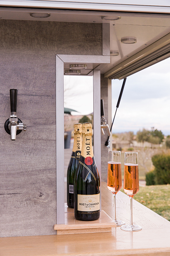
[(122, 187), (120, 151), (108, 152), (107, 188), (114, 196), (114, 222), (117, 226), (125, 222), (116, 219), (116, 194)]

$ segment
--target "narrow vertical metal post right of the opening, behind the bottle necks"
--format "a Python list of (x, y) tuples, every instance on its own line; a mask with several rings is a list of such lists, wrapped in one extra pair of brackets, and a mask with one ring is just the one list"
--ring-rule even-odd
[(94, 70), (93, 71), (94, 156), (95, 156), (97, 169), (101, 178), (100, 82), (101, 82), (100, 70)]

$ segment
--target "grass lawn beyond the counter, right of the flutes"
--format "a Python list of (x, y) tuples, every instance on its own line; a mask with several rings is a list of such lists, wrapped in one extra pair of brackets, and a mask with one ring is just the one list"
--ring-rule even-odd
[(140, 187), (134, 199), (170, 221), (170, 184)]

